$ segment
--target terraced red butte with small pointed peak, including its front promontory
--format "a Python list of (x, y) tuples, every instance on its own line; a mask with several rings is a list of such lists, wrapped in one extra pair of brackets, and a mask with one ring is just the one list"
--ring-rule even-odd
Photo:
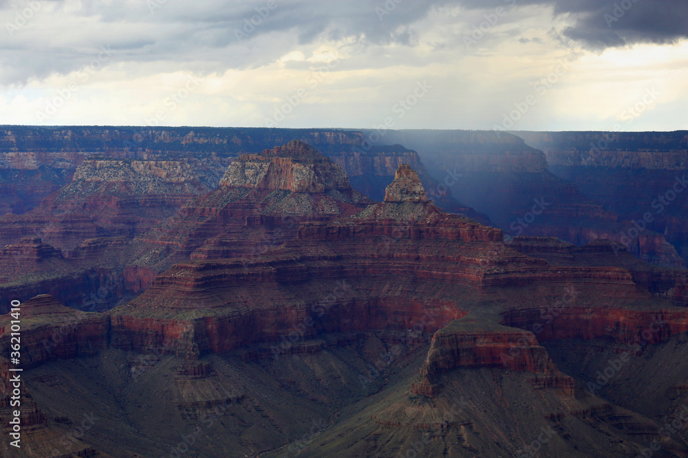
[[(361, 348), (354, 336), (372, 345), (370, 336), (378, 336), (367, 369), (358, 369), (369, 396), (338, 409), (341, 420), (311, 433), (312, 444), (297, 442), (306, 456), (394, 455), (422, 431), (432, 453), (516, 453), (537, 441), (539, 428), (555, 428), (552, 453), (617, 456), (648, 446), (657, 422), (579, 393), (539, 341), (605, 338), (608, 347), (631, 346), (658, 314), (669, 325), (647, 343), (661, 343), (688, 330), (688, 312), (653, 299), (623, 268), (552, 267), (501, 240), (497, 229), (437, 209), (417, 174), (402, 166), (385, 203), (305, 222), (297, 240), (260, 260), (174, 266), (112, 311), (112, 342), (192, 360), (241, 354), (281, 365), (328, 358), (351, 339)], [(552, 307), (555, 324), (541, 318)], [(445, 419), (476, 376), (483, 387), (476, 402), (495, 410)], [(520, 407), (533, 402), (535, 409)], [(495, 421), (497, 410), (510, 419)], [(679, 438), (665, 446), (686, 450)]]

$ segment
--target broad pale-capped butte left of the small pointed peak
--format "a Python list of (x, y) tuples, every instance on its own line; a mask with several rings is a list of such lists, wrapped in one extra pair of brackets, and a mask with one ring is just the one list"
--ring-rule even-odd
[(240, 156), (220, 184), (142, 240), (171, 247), (170, 260), (259, 257), (294, 238), (299, 222), (348, 216), (371, 203), (336, 163), (301, 141)]

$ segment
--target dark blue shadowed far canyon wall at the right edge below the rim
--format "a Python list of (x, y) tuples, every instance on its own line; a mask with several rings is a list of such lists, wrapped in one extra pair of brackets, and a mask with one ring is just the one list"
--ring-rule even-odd
[[(574, 181), (581, 192), (619, 215), (608, 238), (630, 241), (657, 264), (688, 262), (688, 135), (674, 133), (517, 133), (544, 150), (550, 170)], [(645, 218), (647, 216), (647, 218)], [(636, 226), (639, 225), (639, 226)], [(640, 232), (637, 235), (638, 231)], [(612, 237), (614, 235), (615, 237)], [(648, 238), (656, 240), (652, 242)], [(669, 253), (666, 243), (674, 246)], [(638, 247), (638, 245), (641, 245)]]

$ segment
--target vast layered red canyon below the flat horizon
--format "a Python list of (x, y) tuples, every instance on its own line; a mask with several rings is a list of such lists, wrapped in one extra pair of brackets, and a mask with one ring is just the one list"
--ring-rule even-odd
[(678, 239), (623, 246), (532, 138), (49, 130), (0, 135), (68, 177), (0, 218), (19, 456), (506, 456), (542, 431), (546, 456), (688, 455), (658, 439), (688, 401)]

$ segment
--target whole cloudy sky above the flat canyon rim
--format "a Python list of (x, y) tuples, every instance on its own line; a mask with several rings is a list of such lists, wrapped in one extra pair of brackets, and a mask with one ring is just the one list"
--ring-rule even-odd
[(0, 0), (0, 124), (688, 129), (686, 0)]

